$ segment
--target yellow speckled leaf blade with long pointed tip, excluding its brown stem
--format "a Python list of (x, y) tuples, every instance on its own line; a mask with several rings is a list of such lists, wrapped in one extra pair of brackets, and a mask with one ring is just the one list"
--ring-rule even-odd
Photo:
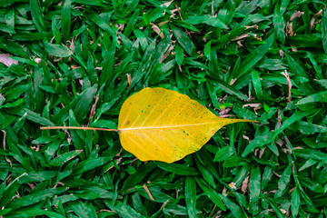
[(124, 149), (141, 161), (173, 163), (201, 149), (225, 124), (255, 122), (216, 116), (185, 94), (144, 88), (123, 104), (118, 132)]

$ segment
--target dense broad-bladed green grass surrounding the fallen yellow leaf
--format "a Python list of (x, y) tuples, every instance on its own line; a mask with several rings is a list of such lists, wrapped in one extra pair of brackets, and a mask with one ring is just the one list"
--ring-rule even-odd
[[(1, 1), (0, 54), (18, 64), (0, 56), (0, 217), (326, 217), (326, 6)], [(40, 130), (116, 128), (124, 100), (157, 86), (262, 124), (171, 164), (116, 133)]]

